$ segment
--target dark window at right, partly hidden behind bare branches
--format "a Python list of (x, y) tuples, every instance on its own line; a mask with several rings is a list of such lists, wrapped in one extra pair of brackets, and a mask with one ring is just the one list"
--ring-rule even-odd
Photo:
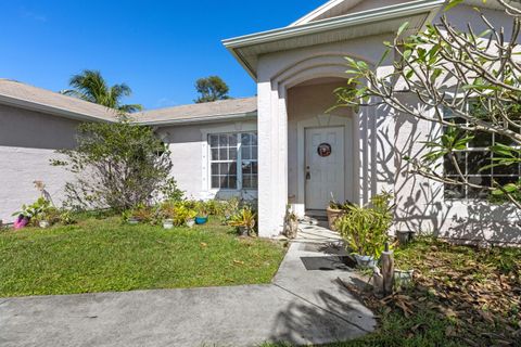
[[(472, 107), (472, 105), (469, 105)], [(450, 110), (444, 110), (444, 118), (455, 124), (462, 124), (465, 119), (452, 115)], [(447, 127), (444, 127), (444, 131)], [(500, 136), (486, 132), (475, 133), (474, 139), (467, 144), (467, 149), (454, 153), (455, 158), (462, 174), (469, 182), (492, 187), (493, 181), (505, 185), (517, 182), (521, 174), (520, 165), (493, 167), (480, 171), (486, 165), (493, 163), (494, 154), (488, 150), (495, 143), (511, 144), (511, 140), (504, 139)], [(454, 180), (461, 180), (456, 166), (452, 163), (449, 156), (445, 157), (444, 175)], [(445, 198), (447, 200), (480, 200), (487, 198), (490, 192), (482, 189), (475, 189), (462, 185), (445, 184)]]

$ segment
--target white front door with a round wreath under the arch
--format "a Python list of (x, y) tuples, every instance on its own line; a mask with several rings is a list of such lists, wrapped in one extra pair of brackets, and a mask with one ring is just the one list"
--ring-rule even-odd
[(306, 209), (345, 201), (344, 127), (306, 129)]

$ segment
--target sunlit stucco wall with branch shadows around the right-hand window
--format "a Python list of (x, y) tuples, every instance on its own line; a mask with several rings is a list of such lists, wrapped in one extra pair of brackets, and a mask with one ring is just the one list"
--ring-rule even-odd
[[(511, 20), (500, 11), (484, 9), (486, 17), (509, 33)], [(450, 23), (467, 30), (471, 23), (474, 33), (486, 29), (476, 11), (459, 5), (447, 14)], [(404, 101), (419, 108), (421, 103), (414, 97)], [(424, 141), (440, 134), (435, 124), (399, 115), (395, 123), (394, 146), (396, 151), (395, 194), (397, 203), (397, 230), (410, 230), (461, 241), (488, 241), (519, 244), (521, 211), (509, 204), (492, 205), (485, 201), (445, 201), (443, 184), (412, 175), (404, 156), (421, 157), (427, 153)], [(440, 163), (442, 164), (442, 163)], [(440, 165), (443, 170), (443, 165)]]

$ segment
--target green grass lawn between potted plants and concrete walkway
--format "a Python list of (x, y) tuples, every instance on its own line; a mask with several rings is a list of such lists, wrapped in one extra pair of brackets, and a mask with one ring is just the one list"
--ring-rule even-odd
[(218, 222), (164, 230), (87, 218), (0, 232), (0, 297), (269, 283), (283, 255)]

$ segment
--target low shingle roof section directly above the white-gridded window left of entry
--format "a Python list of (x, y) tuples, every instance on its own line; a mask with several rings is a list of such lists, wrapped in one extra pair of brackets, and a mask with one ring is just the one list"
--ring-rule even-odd
[(162, 125), (216, 121), (256, 116), (257, 98), (245, 98), (145, 111), (137, 113), (135, 119), (141, 124)]

